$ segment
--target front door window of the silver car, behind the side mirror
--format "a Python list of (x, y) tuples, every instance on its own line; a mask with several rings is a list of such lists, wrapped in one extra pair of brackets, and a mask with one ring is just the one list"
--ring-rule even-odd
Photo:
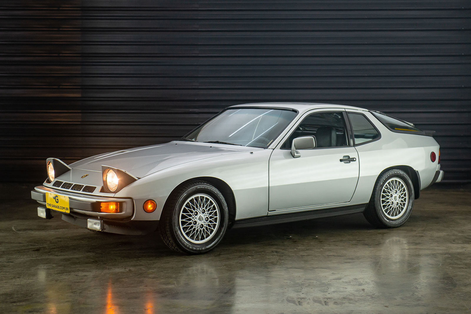
[(291, 149), (292, 140), (299, 136), (314, 136), (316, 147), (349, 145), (342, 111), (318, 112), (307, 116), (281, 148)]

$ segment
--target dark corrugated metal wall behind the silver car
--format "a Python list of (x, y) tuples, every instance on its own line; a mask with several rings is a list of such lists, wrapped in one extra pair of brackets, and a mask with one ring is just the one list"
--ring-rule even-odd
[(469, 1), (23, 0), (0, 5), (2, 181), (170, 141), (243, 102), (332, 102), (436, 130), (471, 177)]

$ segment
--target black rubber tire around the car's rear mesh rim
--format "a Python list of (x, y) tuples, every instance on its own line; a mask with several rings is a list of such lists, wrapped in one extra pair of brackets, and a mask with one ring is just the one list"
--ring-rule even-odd
[[(391, 180), (392, 179), (392, 180)], [(398, 179), (398, 180), (397, 180)], [(382, 201), (381, 201), (381, 196), (382, 196), (382, 191), (384, 186), (390, 182), (400, 182), (405, 184), (405, 188), (407, 190), (407, 200), (405, 201), (406, 206), (404, 210), (401, 210), (401, 212), (398, 212), (396, 216), (389, 216), (387, 215), (387, 210), (383, 211), (382, 207)], [(396, 193), (397, 194), (397, 193)], [(393, 200), (393, 194), (391, 195), (391, 200)], [(397, 200), (398, 197), (395, 198)], [(383, 198), (384, 199), (384, 198)], [(383, 200), (383, 202), (385, 202)], [(383, 206), (387, 206), (384, 205)], [(378, 178), (374, 185), (373, 193), (371, 195), (370, 202), (368, 203), (368, 206), (366, 206), (365, 211), (363, 212), (363, 215), (365, 216), (366, 220), (368, 220), (369, 223), (371, 223), (373, 226), (378, 227), (378, 228), (396, 228), (399, 226), (402, 226), (409, 216), (412, 213), (412, 209), (414, 207), (414, 186), (412, 185), (412, 181), (407, 175), (402, 170), (399, 169), (391, 169)], [(398, 210), (399, 211), (399, 210)], [(393, 218), (397, 217), (397, 218)]]

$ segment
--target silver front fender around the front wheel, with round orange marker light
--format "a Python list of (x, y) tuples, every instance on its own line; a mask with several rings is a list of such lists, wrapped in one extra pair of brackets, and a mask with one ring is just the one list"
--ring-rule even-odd
[[(234, 192), (235, 219), (264, 216), (268, 212), (268, 160), (271, 149), (254, 149), (225, 156), (196, 160), (149, 174), (115, 194), (132, 197), (136, 210), (133, 220), (159, 220), (168, 196), (180, 183), (197, 177), (225, 181)], [(152, 213), (142, 206), (148, 199), (157, 203)]]

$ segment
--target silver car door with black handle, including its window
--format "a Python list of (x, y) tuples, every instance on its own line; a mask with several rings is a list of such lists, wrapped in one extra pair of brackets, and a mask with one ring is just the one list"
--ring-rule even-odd
[[(350, 146), (344, 110), (316, 111), (274, 149), (269, 161), (269, 211), (348, 203), (358, 181), (357, 150)], [(314, 136), (316, 148), (291, 155), (292, 140)], [(340, 159), (355, 158), (351, 161)]]

